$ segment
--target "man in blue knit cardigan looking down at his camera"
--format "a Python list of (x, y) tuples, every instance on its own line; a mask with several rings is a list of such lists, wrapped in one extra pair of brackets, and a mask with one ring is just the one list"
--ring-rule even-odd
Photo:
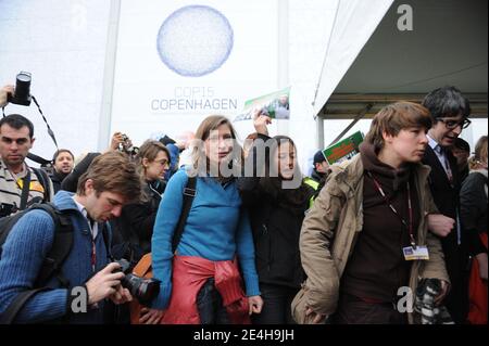
[[(54, 206), (70, 220), (71, 249), (60, 272), (22, 306), (13, 322), (103, 323), (105, 298), (115, 304), (130, 300), (129, 291), (121, 285), (123, 268), (110, 262), (108, 220), (140, 196), (137, 168), (118, 152), (96, 157), (80, 177), (76, 194), (60, 191)], [(59, 233), (53, 218), (39, 209), (26, 213), (12, 228), (0, 259), (0, 319), (27, 287), (39, 287), (36, 278)], [(78, 302), (80, 297), (85, 302)]]

